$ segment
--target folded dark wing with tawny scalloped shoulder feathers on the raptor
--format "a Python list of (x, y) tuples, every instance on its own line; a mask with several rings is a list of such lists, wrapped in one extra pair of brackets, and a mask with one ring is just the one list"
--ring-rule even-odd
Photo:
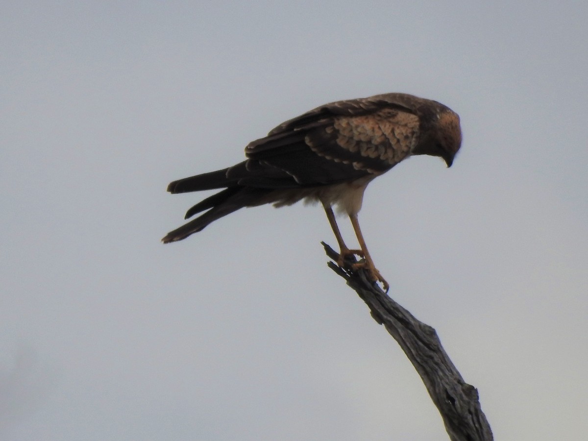
[(419, 117), (396, 102), (373, 98), (332, 103), (283, 123), (250, 143), (248, 161), (227, 176), (240, 178), (240, 185), (295, 188), (387, 171), (410, 155)]

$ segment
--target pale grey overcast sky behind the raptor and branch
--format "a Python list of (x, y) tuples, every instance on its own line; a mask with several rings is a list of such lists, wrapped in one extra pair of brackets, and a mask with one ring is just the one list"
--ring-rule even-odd
[[(167, 184), (322, 103), (462, 119), (360, 222), (497, 440), (588, 439), (588, 2), (0, 6), (0, 439), (445, 440), (406, 356), (326, 266), (322, 209), (159, 239)], [(345, 219), (344, 234), (352, 242)]]

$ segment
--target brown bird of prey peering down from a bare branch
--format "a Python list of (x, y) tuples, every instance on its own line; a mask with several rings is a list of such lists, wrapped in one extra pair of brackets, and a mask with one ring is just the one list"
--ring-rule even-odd
[[(347, 256), (358, 255), (363, 260), (355, 268), (365, 268), (387, 290), (359, 228), (363, 192), (372, 179), (412, 155), (439, 156), (451, 166), (461, 142), (459, 116), (436, 101), (383, 93), (328, 103), (250, 142), (245, 161), (170, 183), (170, 193), (222, 190), (189, 209), (185, 219), (204, 213), (162, 241), (185, 239), (243, 207), (320, 202), (339, 243), (339, 266)], [(333, 206), (349, 216), (359, 250), (343, 242)]]

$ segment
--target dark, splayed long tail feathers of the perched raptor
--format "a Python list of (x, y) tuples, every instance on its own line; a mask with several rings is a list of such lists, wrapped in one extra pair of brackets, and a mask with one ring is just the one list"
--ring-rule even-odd
[(201, 231), (209, 223), (240, 208), (259, 205), (263, 196), (272, 191), (271, 189), (255, 189), (239, 185), (237, 179), (226, 177), (227, 170), (223, 169), (216, 172), (203, 173), (202, 175), (179, 179), (179, 181), (174, 181), (169, 184), (168, 191), (171, 193), (185, 193), (215, 188), (225, 189), (204, 199), (189, 209), (186, 212), (185, 219), (191, 218), (196, 213), (208, 211), (182, 225), (180, 228), (169, 232), (165, 238), (161, 239), (163, 243), (185, 239), (189, 235)]

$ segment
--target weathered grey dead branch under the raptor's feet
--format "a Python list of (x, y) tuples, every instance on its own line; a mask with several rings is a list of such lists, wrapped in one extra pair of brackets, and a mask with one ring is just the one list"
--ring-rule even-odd
[[(339, 254), (322, 242), (329, 258), (337, 261)], [(347, 281), (368, 305), (372, 317), (399, 343), (425, 383), (433, 403), (445, 423), (452, 441), (489, 441), (492, 430), (482, 412), (478, 393), (467, 384), (443, 349), (435, 329), (417, 320), (370, 282), (362, 269), (352, 269), (353, 258), (345, 268), (335, 262), (329, 267)]]

